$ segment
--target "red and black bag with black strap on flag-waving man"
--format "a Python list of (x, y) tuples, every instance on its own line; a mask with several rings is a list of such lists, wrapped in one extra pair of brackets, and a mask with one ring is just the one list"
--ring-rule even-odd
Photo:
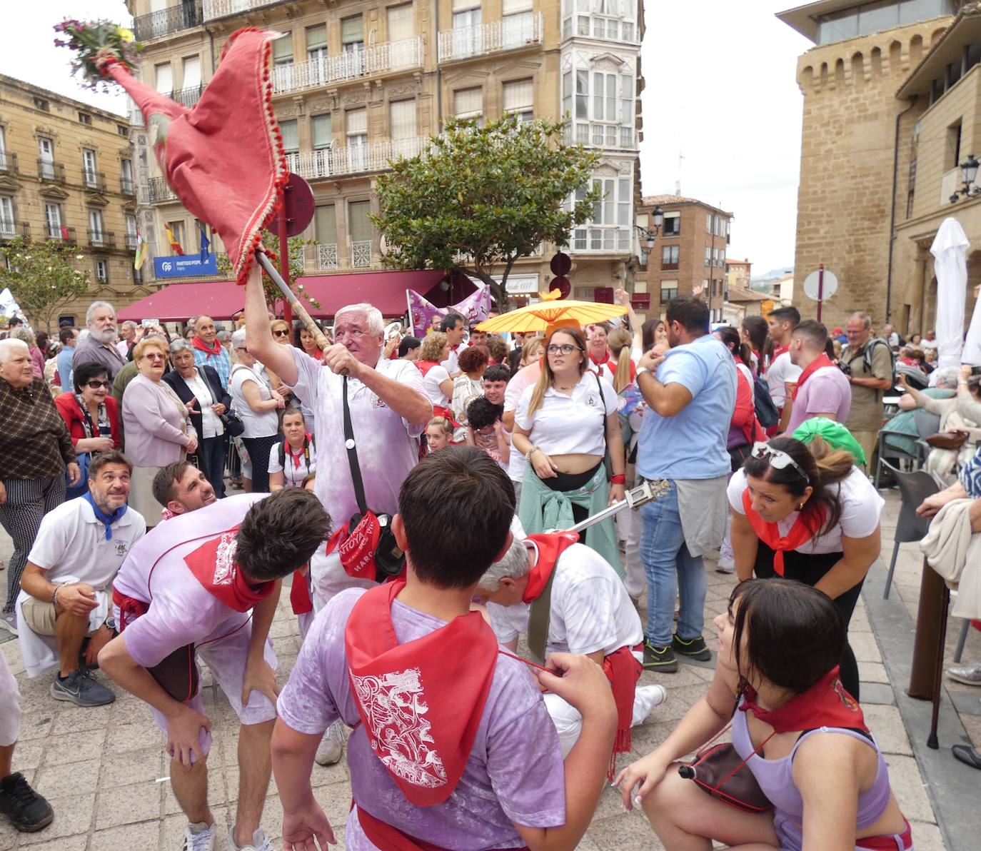
[[(347, 464), (351, 469), (354, 497), (358, 513), (347, 523), (347, 537), (340, 543), (340, 565), (348, 576), (374, 578), (384, 582), (391, 576), (399, 576), (405, 569), (405, 553), (395, 541), (391, 530), (391, 516), (376, 514), (368, 508), (364, 481), (351, 424), (351, 409), (347, 403), (347, 375), (343, 376), (344, 392), (344, 446), (347, 448)], [(374, 568), (374, 570), (372, 570)]]

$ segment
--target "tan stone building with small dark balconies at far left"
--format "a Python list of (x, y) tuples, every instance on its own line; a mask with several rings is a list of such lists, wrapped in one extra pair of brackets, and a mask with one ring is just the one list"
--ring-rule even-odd
[(17, 235), (77, 248), (76, 267), (91, 283), (62, 311), (75, 325), (94, 299), (124, 305), (147, 293), (133, 282), (127, 119), (0, 75), (0, 240)]

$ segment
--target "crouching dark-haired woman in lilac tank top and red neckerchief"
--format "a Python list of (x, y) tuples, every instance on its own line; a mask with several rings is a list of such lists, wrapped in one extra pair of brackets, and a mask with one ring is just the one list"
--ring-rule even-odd
[[(617, 777), (624, 806), (643, 806), (668, 851), (707, 851), (712, 840), (759, 851), (910, 851), (889, 768), (838, 676), (846, 627), (834, 604), (798, 582), (750, 580), (733, 589), (715, 624), (708, 692)], [(678, 773), (676, 761), (726, 725), (738, 770), (751, 773), (772, 811), (737, 809)]]

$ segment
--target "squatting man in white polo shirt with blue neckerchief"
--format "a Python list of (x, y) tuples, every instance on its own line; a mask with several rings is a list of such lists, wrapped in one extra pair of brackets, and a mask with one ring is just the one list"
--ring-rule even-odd
[[(88, 493), (41, 521), (17, 599), (21, 653), (28, 676), (59, 666), (51, 696), (78, 706), (112, 703), (92, 676), (99, 650), (116, 634), (111, 585), (146, 523), (127, 506), (132, 465), (101, 452), (88, 467)], [(88, 644), (80, 658), (82, 642)]]

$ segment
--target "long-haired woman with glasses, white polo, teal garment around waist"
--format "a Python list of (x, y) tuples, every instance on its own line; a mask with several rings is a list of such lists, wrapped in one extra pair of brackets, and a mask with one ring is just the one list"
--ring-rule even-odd
[[(616, 392), (588, 369), (588, 360), (578, 327), (553, 330), (545, 340), (542, 375), (518, 403), (511, 440), (529, 461), (518, 511), (529, 534), (569, 528), (624, 498)], [(581, 540), (623, 575), (611, 519), (591, 526)]]

